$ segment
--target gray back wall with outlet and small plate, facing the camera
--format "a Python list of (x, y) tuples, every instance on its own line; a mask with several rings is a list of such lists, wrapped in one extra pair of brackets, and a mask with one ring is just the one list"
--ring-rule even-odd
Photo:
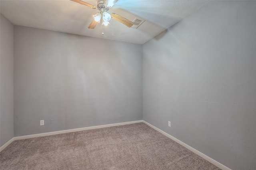
[(14, 136), (136, 120), (142, 45), (14, 26)]

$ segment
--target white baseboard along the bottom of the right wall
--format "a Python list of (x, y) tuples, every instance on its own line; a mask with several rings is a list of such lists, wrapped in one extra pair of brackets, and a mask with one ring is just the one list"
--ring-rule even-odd
[(216, 160), (210, 158), (209, 156), (206, 156), (205, 154), (203, 154), (202, 152), (199, 152), (198, 150), (190, 147), (189, 145), (187, 145), (186, 143), (183, 143), (182, 141), (176, 139), (175, 137), (169, 135), (168, 133), (158, 129), (157, 127), (151, 125), (150, 123), (146, 122), (146, 121), (142, 121), (143, 123), (145, 123), (146, 125), (152, 127), (153, 129), (155, 129), (156, 131), (162, 133), (163, 135), (167, 136), (168, 138), (174, 140), (175, 142), (177, 142), (178, 144), (182, 145), (183, 147), (185, 147), (188, 150), (191, 150), (192, 152), (194, 152), (195, 154), (201, 156), (202, 158), (204, 158), (205, 160), (208, 160), (209, 162), (211, 162), (212, 164), (214, 164), (215, 166), (217, 166), (218, 168), (222, 169), (222, 170), (231, 170), (230, 168), (222, 165), (220, 162), (217, 162)]

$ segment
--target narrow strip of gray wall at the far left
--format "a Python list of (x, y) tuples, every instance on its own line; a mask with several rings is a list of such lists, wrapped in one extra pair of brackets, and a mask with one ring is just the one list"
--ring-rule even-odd
[(0, 147), (14, 137), (13, 25), (0, 14)]

